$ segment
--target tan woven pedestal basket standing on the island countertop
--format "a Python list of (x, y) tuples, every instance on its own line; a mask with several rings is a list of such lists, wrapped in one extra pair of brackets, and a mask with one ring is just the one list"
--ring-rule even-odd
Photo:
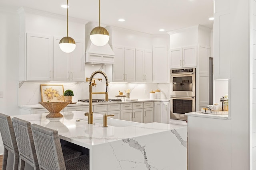
[(50, 113), (46, 115), (47, 118), (63, 117), (60, 111), (64, 109), (70, 102), (39, 102)]

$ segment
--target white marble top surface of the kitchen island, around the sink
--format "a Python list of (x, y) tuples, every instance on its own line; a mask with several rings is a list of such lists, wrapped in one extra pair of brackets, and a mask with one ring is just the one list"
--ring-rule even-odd
[[(32, 115), (16, 115), (31, 124), (36, 123), (44, 127), (58, 130), (61, 139), (91, 149), (94, 145), (106, 144), (132, 137), (170, 131), (173, 129), (184, 128), (184, 125), (170, 125), (164, 123), (142, 123), (140, 125), (127, 127), (102, 127), (101, 123), (88, 124), (88, 117), (82, 111), (60, 112), (62, 118), (46, 118), (48, 113)], [(103, 119), (100, 114), (94, 114), (94, 120)]]

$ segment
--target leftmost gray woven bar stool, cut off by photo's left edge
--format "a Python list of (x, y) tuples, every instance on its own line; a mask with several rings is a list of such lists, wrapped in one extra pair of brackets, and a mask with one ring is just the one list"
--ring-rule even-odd
[(12, 120), (9, 115), (0, 113), (0, 132), (4, 144), (4, 157), (2, 170), (6, 170), (8, 151), (14, 154), (13, 170), (18, 170), (19, 151), (14, 134)]

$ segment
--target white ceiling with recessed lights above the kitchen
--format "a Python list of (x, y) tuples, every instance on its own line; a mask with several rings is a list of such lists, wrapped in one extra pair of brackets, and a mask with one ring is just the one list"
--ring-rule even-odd
[[(0, 8), (22, 6), (66, 16), (66, 0), (0, 0)], [(98, 22), (98, 0), (69, 0), (68, 16)], [(213, 0), (101, 0), (100, 21), (153, 35), (194, 25), (212, 28)], [(124, 22), (118, 19), (125, 19)], [(158, 31), (165, 29), (164, 32)]]

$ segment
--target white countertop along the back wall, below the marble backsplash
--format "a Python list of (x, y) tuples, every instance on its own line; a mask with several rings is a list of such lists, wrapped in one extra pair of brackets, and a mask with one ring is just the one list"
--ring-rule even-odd
[[(121, 101), (121, 102), (94, 102), (94, 103), (92, 103), (92, 105), (116, 104), (116, 103), (136, 103), (136, 102), (158, 102), (158, 101), (160, 101), (160, 102), (161, 101), (169, 102), (168, 99), (138, 99), (138, 100), (133, 100), (133, 101)], [(70, 107), (70, 106), (89, 106), (89, 103), (77, 102), (76, 104), (69, 104), (66, 107)], [(20, 108), (28, 108), (28, 109), (41, 109), (41, 108), (44, 108), (40, 104), (20, 105), (19, 107)]]

